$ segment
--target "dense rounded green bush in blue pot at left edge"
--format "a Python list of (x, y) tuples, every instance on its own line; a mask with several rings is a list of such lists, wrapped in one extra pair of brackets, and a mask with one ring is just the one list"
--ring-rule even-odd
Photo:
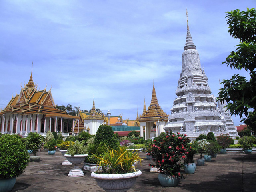
[(0, 137), (0, 191), (11, 191), (16, 177), (29, 163), (26, 147), (18, 135), (4, 134)]

